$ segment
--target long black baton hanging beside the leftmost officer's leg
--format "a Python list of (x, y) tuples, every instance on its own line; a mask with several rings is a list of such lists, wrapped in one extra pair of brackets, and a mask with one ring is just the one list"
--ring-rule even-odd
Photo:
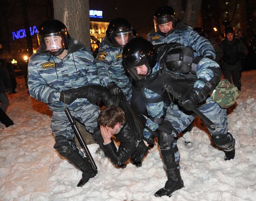
[(72, 126), (73, 129), (74, 129), (74, 133), (75, 133), (76, 137), (78, 138), (78, 140), (79, 140), (81, 146), (84, 148), (84, 151), (85, 151), (85, 154), (86, 154), (86, 156), (87, 156), (87, 158), (88, 158), (88, 161), (91, 163), (93, 170), (94, 170), (94, 171), (97, 171), (97, 166), (96, 166), (96, 164), (95, 164), (95, 162), (94, 162), (94, 159), (93, 159), (93, 157), (92, 157), (92, 155), (91, 155), (91, 153), (90, 153), (90, 151), (89, 151), (89, 149), (88, 149), (88, 147), (87, 147), (87, 145), (86, 145), (84, 139), (82, 138), (82, 135), (81, 135), (81, 133), (80, 133), (78, 127), (75, 125), (74, 119), (73, 119), (73, 117), (72, 117), (72, 115), (71, 115), (69, 109), (68, 109), (67, 107), (65, 107), (65, 108), (64, 108), (64, 111), (65, 111), (65, 113), (66, 113), (66, 115), (67, 115), (67, 119), (69, 120), (71, 126)]

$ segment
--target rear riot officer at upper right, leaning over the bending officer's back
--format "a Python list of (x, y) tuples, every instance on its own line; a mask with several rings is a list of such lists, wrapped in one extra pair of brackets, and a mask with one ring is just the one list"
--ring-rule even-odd
[(215, 59), (216, 55), (209, 40), (196, 33), (192, 27), (177, 19), (174, 9), (169, 6), (159, 7), (154, 15), (155, 28), (148, 33), (148, 40), (153, 45), (177, 42), (184, 47), (191, 47), (202, 57)]

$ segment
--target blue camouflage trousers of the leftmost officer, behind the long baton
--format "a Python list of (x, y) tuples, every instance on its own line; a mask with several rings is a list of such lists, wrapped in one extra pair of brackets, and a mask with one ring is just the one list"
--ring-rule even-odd
[[(88, 104), (79, 107), (70, 107), (69, 110), (73, 117), (84, 124), (90, 133), (93, 133), (94, 128), (97, 127), (97, 119), (100, 114), (98, 106), (88, 102)], [(55, 138), (58, 135), (63, 135), (67, 139), (74, 138), (74, 130), (64, 111), (53, 111), (51, 128)]]

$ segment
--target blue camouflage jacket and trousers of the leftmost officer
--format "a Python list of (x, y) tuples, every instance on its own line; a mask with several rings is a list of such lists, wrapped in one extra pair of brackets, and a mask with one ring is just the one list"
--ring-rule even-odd
[[(67, 52), (67, 56), (60, 59), (48, 52), (41, 52), (38, 48), (28, 62), (29, 94), (47, 103), (53, 111), (51, 128), (55, 140), (56, 136), (64, 136), (68, 140), (74, 138), (74, 131), (64, 112), (65, 104), (59, 100), (61, 91), (100, 84), (91, 52), (76, 40), (71, 40)], [(86, 98), (76, 99), (67, 107), (71, 114), (93, 133), (97, 127), (99, 107), (91, 104)], [(74, 148), (74, 145), (72, 146)]]

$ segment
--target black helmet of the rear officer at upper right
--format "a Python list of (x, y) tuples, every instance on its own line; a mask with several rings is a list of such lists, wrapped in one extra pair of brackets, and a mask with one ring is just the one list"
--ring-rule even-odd
[[(156, 11), (155, 11), (155, 15), (154, 15), (154, 24), (155, 24), (155, 32), (161, 32), (159, 30), (159, 25), (161, 24), (166, 24), (170, 21), (172, 21), (172, 27), (173, 29), (175, 28), (175, 24), (176, 24), (176, 16), (175, 16), (175, 12), (174, 9), (172, 7), (169, 6), (163, 6), (163, 7), (159, 7)], [(173, 29), (171, 29), (168, 33), (164, 33), (165, 35), (168, 35), (169, 33), (171, 33), (173, 31)]]

